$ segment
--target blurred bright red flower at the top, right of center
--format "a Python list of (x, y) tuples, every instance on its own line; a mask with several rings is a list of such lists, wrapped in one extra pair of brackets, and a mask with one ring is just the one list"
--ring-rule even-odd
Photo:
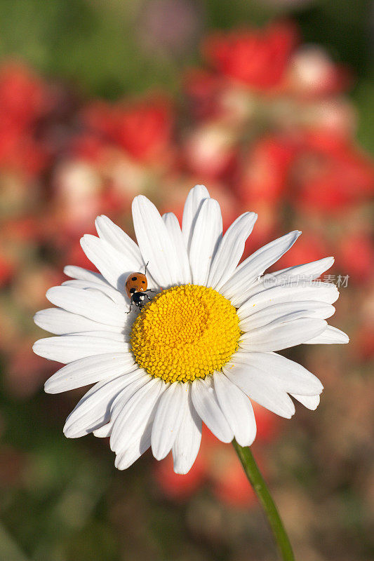
[(208, 37), (203, 54), (220, 74), (254, 89), (272, 90), (281, 85), (297, 43), (294, 25), (274, 23)]

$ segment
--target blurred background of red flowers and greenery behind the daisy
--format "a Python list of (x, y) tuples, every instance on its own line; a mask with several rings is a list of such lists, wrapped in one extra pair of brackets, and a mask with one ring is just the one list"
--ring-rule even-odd
[(265, 561), (272, 536), (232, 447), (192, 471), (67, 440), (82, 391), (32, 321), (105, 213), (133, 234), (147, 194), (181, 217), (204, 183), (246, 255), (291, 229), (277, 268), (335, 255), (349, 346), (288, 356), (323, 382), (316, 412), (256, 408), (255, 457), (298, 560), (368, 561), (373, 542), (374, 4), (367, 0), (0, 0), (0, 560)]

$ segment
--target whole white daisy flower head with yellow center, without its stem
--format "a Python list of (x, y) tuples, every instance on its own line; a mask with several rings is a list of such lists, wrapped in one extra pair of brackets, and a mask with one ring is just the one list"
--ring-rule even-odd
[(81, 246), (100, 273), (67, 266), (72, 280), (46, 294), (58, 307), (35, 316), (57, 337), (39, 339), (34, 352), (65, 364), (46, 392), (95, 384), (67, 417), (68, 438), (110, 437), (119, 469), (149, 447), (156, 459), (172, 451), (175, 472), (187, 473), (202, 422), (222, 442), (248, 446), (251, 400), (286, 418), (293, 399), (316, 409), (319, 379), (276, 351), (348, 341), (326, 323), (338, 289), (315, 280), (333, 258), (264, 274), (295, 243), (293, 231), (239, 264), (256, 218), (244, 212), (223, 235), (218, 201), (196, 185), (182, 227), (135, 197), (138, 243), (96, 219), (98, 237), (84, 236)]

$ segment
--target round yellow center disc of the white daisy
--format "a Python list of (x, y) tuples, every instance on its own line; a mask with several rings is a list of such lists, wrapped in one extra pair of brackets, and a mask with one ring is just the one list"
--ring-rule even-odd
[(221, 370), (241, 335), (234, 306), (213, 288), (163, 290), (142, 308), (131, 330), (138, 365), (154, 377), (192, 381)]

